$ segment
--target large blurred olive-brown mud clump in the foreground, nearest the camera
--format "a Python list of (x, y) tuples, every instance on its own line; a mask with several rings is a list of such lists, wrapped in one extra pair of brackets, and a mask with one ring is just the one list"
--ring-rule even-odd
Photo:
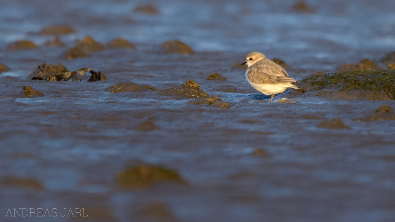
[(122, 188), (134, 190), (144, 190), (160, 182), (187, 184), (176, 171), (152, 165), (130, 167), (118, 172), (117, 179)]

